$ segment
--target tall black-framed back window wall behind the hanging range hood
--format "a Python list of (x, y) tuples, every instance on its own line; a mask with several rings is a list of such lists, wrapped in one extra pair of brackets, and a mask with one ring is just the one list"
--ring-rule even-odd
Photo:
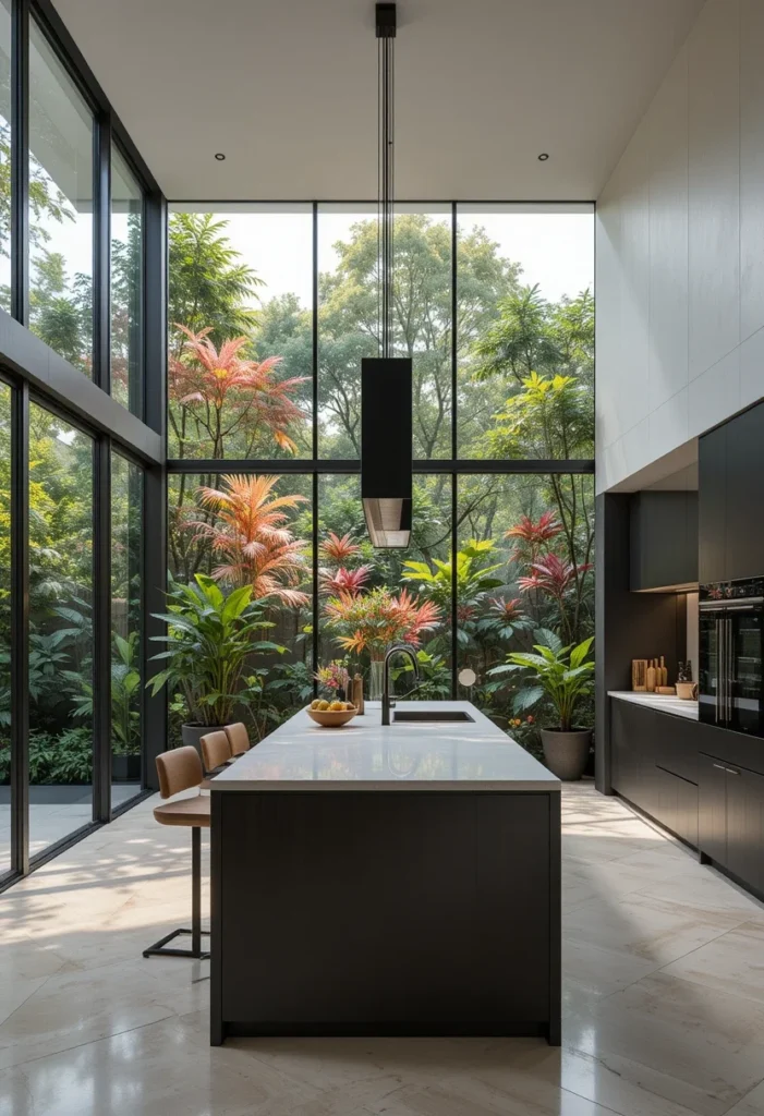
[[(310, 603), (296, 613), (271, 594), (269, 618), (292, 633), (292, 658), (260, 673), (269, 719), (249, 698), (241, 714), (257, 737), (269, 731), (307, 700), (313, 663), (359, 672), (376, 690), (383, 648), (404, 639), (419, 662), (415, 696), (470, 695), (536, 749), (538, 711), (520, 716), (528, 694), (502, 670), (507, 654), (593, 632), (592, 208), (396, 206), (393, 344), (414, 365), (406, 551), (370, 546), (360, 502), (360, 363), (380, 343), (376, 206), (240, 209), (171, 213), (174, 320), (197, 307), (184, 290), (191, 279), (201, 290), (203, 276), (205, 310), (191, 333), (212, 330), (171, 334), (173, 577), (204, 569), (223, 594), (242, 580), (260, 591), (241, 564), (235, 577), (215, 564), (215, 547), (254, 554), (272, 529), (229, 519), (220, 541), (222, 504), (205, 492), (225, 496), (234, 481), (220, 459), (235, 462), (240, 485), (275, 477), (273, 492), (289, 500), (313, 477), (310, 522), (284, 504), (274, 523), (288, 545), (299, 540)], [(235, 352), (224, 348), (233, 338)], [(253, 377), (258, 362), (268, 381)], [(273, 410), (269, 424), (265, 383), (299, 417)], [(242, 422), (257, 437), (241, 436)], [(394, 673), (397, 691), (409, 690), (410, 670), (402, 662)], [(176, 719), (192, 715), (182, 695), (173, 708)]]

